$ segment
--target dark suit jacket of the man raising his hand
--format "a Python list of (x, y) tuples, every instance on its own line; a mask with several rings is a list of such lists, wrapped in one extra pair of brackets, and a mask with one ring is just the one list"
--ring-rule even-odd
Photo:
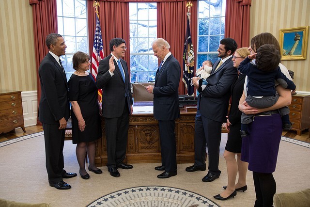
[(125, 82), (115, 60), (114, 75), (111, 77), (109, 73), (109, 59), (111, 56), (110, 54), (100, 61), (96, 78), (97, 88), (102, 88), (102, 116), (106, 118), (120, 117), (123, 114), (125, 99), (127, 99), (129, 111), (130, 105), (133, 104), (127, 63), (120, 59), (125, 72)]

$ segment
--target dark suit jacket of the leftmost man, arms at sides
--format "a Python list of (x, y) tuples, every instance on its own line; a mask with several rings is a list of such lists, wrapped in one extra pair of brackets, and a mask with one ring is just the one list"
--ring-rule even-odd
[(64, 117), (69, 119), (68, 84), (66, 75), (55, 58), (48, 52), (39, 67), (41, 99), (38, 117), (40, 122), (58, 125)]

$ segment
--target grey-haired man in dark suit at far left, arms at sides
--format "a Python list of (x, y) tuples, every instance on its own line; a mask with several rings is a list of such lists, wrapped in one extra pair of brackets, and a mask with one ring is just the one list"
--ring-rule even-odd
[(63, 170), (64, 132), (69, 119), (68, 85), (60, 56), (65, 55), (67, 46), (62, 35), (47, 35), (49, 50), (39, 67), (41, 99), (38, 117), (44, 130), (46, 167), (48, 182), (57, 189), (70, 189), (62, 178), (77, 176)]

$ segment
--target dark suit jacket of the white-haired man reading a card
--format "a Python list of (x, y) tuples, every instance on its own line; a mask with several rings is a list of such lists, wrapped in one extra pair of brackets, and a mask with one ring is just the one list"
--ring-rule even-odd
[(154, 93), (154, 117), (160, 121), (171, 121), (180, 118), (179, 81), (181, 66), (170, 55), (156, 72)]

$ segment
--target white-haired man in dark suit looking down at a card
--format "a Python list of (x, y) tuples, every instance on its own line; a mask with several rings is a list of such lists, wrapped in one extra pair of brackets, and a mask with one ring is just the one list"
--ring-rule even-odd
[(175, 119), (180, 118), (179, 81), (181, 66), (169, 51), (169, 43), (155, 39), (152, 48), (154, 55), (161, 61), (156, 72), (155, 85), (149, 85), (146, 90), (154, 94), (154, 117), (158, 120), (161, 166), (155, 170), (164, 170), (158, 178), (168, 178), (177, 175)]

